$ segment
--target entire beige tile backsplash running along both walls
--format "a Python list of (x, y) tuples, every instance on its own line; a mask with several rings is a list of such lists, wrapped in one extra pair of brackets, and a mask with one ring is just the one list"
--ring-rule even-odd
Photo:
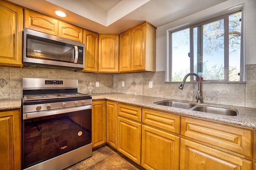
[[(256, 64), (246, 65), (245, 82), (202, 83), (204, 103), (256, 108)], [(165, 83), (164, 71), (106, 74), (53, 70), (44, 68), (0, 67), (0, 99), (22, 98), (22, 78), (65, 78), (78, 79), (78, 92), (87, 93), (86, 81), (95, 86), (94, 93), (124, 93), (152, 96), (174, 100), (196, 101), (196, 82), (186, 82), (184, 90), (178, 89), (180, 82)], [(100, 86), (96, 87), (96, 81)], [(124, 82), (124, 87), (122, 86)], [(149, 82), (153, 82), (149, 88)], [(88, 82), (87, 82), (88, 83)]]

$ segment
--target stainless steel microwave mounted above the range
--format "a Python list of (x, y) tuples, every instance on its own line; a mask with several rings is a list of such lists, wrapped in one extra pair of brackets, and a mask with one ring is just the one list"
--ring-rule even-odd
[(82, 70), (84, 43), (24, 28), (24, 66)]

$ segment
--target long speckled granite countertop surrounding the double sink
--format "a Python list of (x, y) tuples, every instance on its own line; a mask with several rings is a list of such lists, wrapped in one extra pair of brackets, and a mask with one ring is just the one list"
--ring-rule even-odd
[[(130, 94), (113, 94), (113, 93), (94, 94), (92, 96), (92, 100), (100, 100), (100, 99), (114, 100), (117, 102), (123, 102), (127, 104), (133, 104), (141, 107), (148, 107), (148, 108), (158, 109), (162, 111), (169, 111), (169, 112), (178, 113), (181, 115), (190, 115), (194, 117), (200, 117), (204, 119), (210, 119), (214, 121), (220, 121), (220, 122), (240, 125), (244, 127), (256, 128), (256, 108), (224, 106), (224, 105), (207, 104), (207, 103), (197, 104), (196, 102), (188, 102), (188, 103), (201, 105), (201, 106), (215, 106), (215, 107), (221, 107), (221, 108), (234, 109), (238, 111), (237, 116), (226, 116), (226, 115), (204, 113), (200, 111), (179, 109), (175, 107), (168, 107), (168, 106), (161, 106), (161, 105), (154, 104), (154, 102), (159, 102), (162, 100), (171, 100), (166, 98), (155, 98), (155, 97), (147, 97), (147, 96), (137, 96), (137, 95), (130, 95)], [(184, 102), (179, 100), (172, 100), (172, 101)]]

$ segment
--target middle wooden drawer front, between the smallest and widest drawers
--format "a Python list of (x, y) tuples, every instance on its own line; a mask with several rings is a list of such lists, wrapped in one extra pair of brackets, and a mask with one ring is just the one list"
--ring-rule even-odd
[(151, 109), (142, 109), (142, 122), (166, 131), (180, 134), (179, 115)]

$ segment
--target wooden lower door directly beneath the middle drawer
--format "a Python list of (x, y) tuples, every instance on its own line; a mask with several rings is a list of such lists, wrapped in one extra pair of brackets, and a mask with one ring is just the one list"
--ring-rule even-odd
[(141, 166), (147, 170), (179, 169), (180, 137), (142, 125)]

